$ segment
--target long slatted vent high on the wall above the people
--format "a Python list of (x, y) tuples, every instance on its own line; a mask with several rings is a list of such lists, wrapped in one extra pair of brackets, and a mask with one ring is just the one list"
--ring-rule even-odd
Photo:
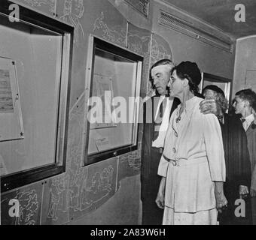
[(165, 26), (166, 28), (171, 28), (175, 31), (179, 31), (187, 36), (196, 38), (203, 43), (208, 43), (211, 46), (218, 47), (227, 52), (233, 52), (233, 44), (229, 43), (227, 40), (222, 40), (210, 34), (207, 31), (195, 28), (192, 23), (188, 23), (185, 20), (181, 20), (178, 17), (174, 17), (169, 13), (160, 10), (159, 24)]

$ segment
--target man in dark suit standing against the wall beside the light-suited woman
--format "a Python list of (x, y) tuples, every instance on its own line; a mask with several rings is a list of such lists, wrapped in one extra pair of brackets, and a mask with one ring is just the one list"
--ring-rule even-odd
[[(169, 116), (178, 106), (178, 99), (169, 100), (167, 83), (169, 82), (172, 61), (162, 59), (151, 67), (150, 80), (156, 95), (144, 103), (143, 138), (142, 138), (142, 224), (160, 225), (163, 219), (163, 210), (157, 208), (155, 199), (160, 184), (157, 175), (158, 163), (163, 151), (163, 140), (166, 129), (160, 129), (165, 121), (164, 128), (168, 127)], [(162, 127), (163, 128), (163, 127)]]

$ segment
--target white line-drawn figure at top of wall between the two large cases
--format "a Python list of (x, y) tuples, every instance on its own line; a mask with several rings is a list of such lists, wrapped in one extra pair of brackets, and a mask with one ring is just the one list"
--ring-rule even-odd
[(83, 0), (64, 0), (63, 15), (59, 17), (65, 23), (69, 23), (75, 28), (74, 43), (78, 46), (81, 39), (84, 39), (84, 29), (80, 22), (84, 16)]

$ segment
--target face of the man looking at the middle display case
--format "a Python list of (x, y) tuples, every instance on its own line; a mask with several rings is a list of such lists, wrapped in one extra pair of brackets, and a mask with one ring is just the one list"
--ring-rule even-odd
[(172, 68), (169, 65), (160, 65), (151, 70), (153, 84), (159, 95), (166, 95), (167, 93), (166, 86), (169, 82), (171, 70)]

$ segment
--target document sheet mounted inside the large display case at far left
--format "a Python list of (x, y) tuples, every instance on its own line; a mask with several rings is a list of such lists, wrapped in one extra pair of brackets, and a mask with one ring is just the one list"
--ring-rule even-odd
[(0, 57), (0, 141), (23, 138), (15, 61)]

